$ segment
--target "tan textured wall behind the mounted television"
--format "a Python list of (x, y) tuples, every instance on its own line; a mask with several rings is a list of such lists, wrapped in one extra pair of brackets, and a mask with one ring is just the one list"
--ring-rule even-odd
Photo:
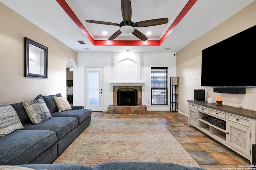
[[(188, 114), (187, 100), (194, 100), (194, 89), (205, 89), (206, 98), (213, 98), (214, 102), (216, 96), (222, 96), (222, 104), (224, 105), (242, 106), (246, 109), (256, 110), (256, 88), (246, 88), (245, 95), (238, 95), (213, 93), (212, 87), (201, 87), (200, 85), (202, 50), (254, 25), (256, 25), (256, 1), (176, 53), (176, 75), (179, 77), (178, 102), (184, 113)], [(242, 51), (238, 52), (242, 53)], [(237, 60), (239, 61), (240, 59), (234, 59), (234, 62)], [(212, 71), (212, 76), (214, 76), (214, 66), (209, 66), (209, 69)], [(242, 79), (239, 76), (238, 80)]]

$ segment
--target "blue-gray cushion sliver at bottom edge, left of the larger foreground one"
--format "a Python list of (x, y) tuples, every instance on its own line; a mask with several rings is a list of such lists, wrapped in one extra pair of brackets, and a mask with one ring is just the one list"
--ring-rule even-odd
[(17, 165), (35, 170), (92, 170), (90, 166), (75, 165), (75, 164), (30, 164), (30, 165)]

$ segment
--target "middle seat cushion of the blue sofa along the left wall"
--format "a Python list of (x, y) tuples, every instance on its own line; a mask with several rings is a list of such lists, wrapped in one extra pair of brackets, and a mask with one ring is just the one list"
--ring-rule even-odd
[(69, 133), (78, 125), (78, 120), (74, 117), (52, 117), (47, 121), (43, 121), (37, 125), (28, 123), (24, 126), (24, 130), (49, 130), (54, 131), (59, 141), (64, 135)]

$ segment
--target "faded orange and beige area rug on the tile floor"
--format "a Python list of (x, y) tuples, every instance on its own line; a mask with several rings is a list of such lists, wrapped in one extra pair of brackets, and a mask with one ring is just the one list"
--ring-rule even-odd
[(169, 162), (200, 167), (158, 119), (92, 119), (54, 164), (93, 167), (104, 162)]

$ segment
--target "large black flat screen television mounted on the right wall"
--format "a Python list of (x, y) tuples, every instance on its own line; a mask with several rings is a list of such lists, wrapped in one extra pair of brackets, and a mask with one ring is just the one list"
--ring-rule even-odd
[(256, 87), (256, 25), (202, 50), (201, 86)]

